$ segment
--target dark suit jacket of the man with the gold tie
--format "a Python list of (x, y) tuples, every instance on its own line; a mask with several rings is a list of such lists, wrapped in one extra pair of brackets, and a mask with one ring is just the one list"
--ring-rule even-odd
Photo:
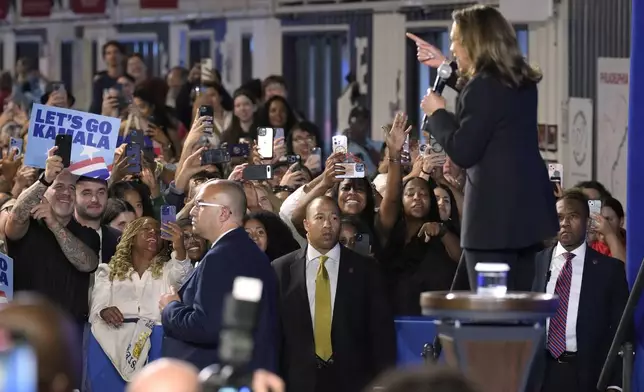
[[(313, 322), (306, 290), (306, 248), (272, 263), (280, 314), (280, 373), (290, 392), (316, 389)], [(345, 247), (333, 308), (333, 364), (322, 390), (356, 392), (396, 362), (394, 319), (376, 261)]]

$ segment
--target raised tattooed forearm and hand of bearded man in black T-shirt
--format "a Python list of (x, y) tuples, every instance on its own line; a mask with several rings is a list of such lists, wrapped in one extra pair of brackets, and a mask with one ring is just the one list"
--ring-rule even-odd
[(18, 196), (18, 200), (16, 200), (16, 204), (9, 213), (7, 223), (5, 224), (7, 238), (17, 241), (27, 234), (31, 210), (40, 204), (49, 185), (54, 182), (58, 174), (63, 170), (62, 158), (54, 155), (57, 148), (52, 147), (47, 151), (45, 173), (38, 181)]

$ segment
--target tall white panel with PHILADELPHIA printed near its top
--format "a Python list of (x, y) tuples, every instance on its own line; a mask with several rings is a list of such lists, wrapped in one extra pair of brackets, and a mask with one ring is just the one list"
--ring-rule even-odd
[(597, 180), (626, 206), (630, 60), (597, 60)]

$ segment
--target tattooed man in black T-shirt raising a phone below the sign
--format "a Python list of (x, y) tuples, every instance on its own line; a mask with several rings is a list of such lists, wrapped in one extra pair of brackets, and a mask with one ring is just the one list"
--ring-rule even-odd
[(95, 230), (74, 220), (76, 177), (63, 168), (56, 148), (49, 149), (45, 171), (9, 213), (7, 247), (14, 260), (14, 290), (44, 295), (84, 326), (100, 240)]

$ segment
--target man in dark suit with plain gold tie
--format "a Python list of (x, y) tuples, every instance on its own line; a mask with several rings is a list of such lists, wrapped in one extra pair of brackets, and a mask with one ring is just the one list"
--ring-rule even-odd
[(332, 199), (309, 204), (304, 228), (306, 248), (273, 262), (281, 375), (288, 391), (360, 391), (396, 359), (378, 265), (340, 245)]

